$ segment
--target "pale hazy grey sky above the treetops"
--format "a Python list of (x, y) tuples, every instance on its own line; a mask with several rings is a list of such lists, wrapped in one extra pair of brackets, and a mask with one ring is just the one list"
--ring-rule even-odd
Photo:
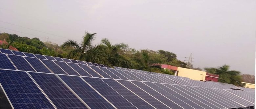
[(85, 31), (130, 48), (165, 50), (194, 67), (255, 75), (255, 0), (1, 0), (0, 32), (62, 44)]

